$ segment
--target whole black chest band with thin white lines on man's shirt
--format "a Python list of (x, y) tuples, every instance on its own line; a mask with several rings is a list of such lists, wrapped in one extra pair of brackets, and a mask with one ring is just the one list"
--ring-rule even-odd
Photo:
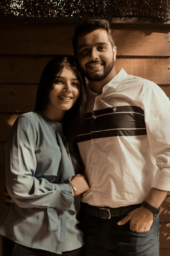
[[(121, 106), (119, 107), (119, 110), (120, 108)], [(145, 125), (144, 116), (143, 114), (139, 115), (144, 112), (140, 107), (122, 106), (121, 110), (124, 111), (125, 113), (124, 112), (116, 113), (115, 112), (116, 110), (114, 108), (97, 110), (97, 111), (94, 111), (93, 113), (97, 113), (101, 115), (95, 116), (93, 114), (92, 118), (91, 118), (92, 112), (87, 113), (87, 116), (86, 116), (87, 119), (84, 120), (82, 125), (82, 130), (80, 132), (80, 135), (83, 135), (84, 137), (78, 136), (77, 137), (78, 141), (81, 142), (81, 141), (90, 140), (93, 136), (95, 136), (94, 134), (98, 134), (96, 135), (97, 137), (98, 136), (99, 137), (101, 136), (104, 136), (104, 137), (134, 136), (134, 135), (146, 134), (146, 125)], [(131, 113), (132, 111), (137, 111), (137, 113), (139, 112), (140, 113), (139, 114), (134, 112)], [(135, 132), (134, 130), (131, 130), (131, 129), (134, 129), (134, 130), (141, 129), (141, 130), (140, 131), (136, 130)], [(97, 132), (97, 131), (101, 131), (101, 132)], [(92, 137), (90, 135), (91, 132), (92, 132)]]

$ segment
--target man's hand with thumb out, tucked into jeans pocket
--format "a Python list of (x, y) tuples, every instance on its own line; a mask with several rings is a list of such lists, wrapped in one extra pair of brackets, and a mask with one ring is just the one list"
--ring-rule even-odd
[(118, 222), (118, 225), (124, 225), (130, 220), (130, 229), (136, 232), (145, 232), (150, 229), (153, 223), (153, 213), (141, 206)]

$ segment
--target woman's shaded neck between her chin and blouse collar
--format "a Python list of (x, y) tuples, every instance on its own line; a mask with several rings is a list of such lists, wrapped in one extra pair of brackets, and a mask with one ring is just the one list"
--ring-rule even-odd
[(47, 106), (46, 109), (43, 111), (43, 114), (54, 122), (61, 122), (64, 117), (65, 110), (56, 108), (53, 109)]

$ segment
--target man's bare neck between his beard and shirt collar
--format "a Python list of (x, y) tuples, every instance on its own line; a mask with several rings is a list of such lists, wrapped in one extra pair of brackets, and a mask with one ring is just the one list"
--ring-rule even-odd
[(110, 74), (102, 81), (99, 82), (92, 82), (89, 81), (90, 87), (93, 92), (96, 92), (97, 94), (101, 94), (103, 92), (103, 87), (110, 82), (115, 76), (117, 75), (117, 72), (115, 71), (115, 68), (112, 69)]

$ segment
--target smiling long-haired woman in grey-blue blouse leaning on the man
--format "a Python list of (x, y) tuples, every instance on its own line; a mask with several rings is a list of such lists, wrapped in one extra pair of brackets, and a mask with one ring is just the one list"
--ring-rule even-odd
[[(12, 127), (6, 183), (15, 203), (0, 228), (15, 242), (12, 255), (81, 255), (83, 234), (76, 214), (80, 194), (90, 188), (75, 137), (85, 103), (85, 79), (73, 57), (57, 57), (42, 73), (35, 111), (21, 115)], [(82, 174), (75, 173), (70, 156)]]

